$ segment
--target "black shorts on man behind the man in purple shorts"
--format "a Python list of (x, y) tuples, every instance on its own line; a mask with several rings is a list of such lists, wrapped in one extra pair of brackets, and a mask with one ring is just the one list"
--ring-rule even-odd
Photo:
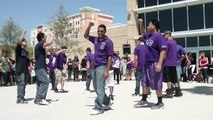
[(177, 83), (177, 70), (176, 67), (165, 66), (163, 69), (164, 82)]

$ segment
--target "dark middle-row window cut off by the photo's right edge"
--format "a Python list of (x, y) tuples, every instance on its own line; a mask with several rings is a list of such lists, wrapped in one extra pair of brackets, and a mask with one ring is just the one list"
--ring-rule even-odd
[(205, 5), (205, 18), (206, 18), (206, 28), (213, 28), (213, 3), (208, 3)]

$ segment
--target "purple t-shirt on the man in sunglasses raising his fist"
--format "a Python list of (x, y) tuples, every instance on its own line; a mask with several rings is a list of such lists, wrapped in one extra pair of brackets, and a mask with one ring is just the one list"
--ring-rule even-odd
[(94, 44), (94, 67), (97, 68), (101, 65), (107, 65), (108, 57), (113, 56), (113, 43), (107, 36), (100, 40), (99, 37), (89, 36), (89, 40)]

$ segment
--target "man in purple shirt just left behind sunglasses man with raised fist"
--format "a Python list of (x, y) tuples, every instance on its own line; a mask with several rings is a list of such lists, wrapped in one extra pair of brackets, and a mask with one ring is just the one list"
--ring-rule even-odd
[(87, 81), (86, 81), (86, 90), (90, 91), (90, 83), (93, 81), (93, 88), (95, 90), (95, 79), (94, 79), (94, 54), (90, 47), (86, 49), (86, 61), (87, 61)]

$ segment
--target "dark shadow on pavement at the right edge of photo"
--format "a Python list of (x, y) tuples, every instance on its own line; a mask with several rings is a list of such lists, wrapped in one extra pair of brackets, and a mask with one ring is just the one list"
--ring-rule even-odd
[(196, 86), (190, 89), (182, 89), (182, 91), (191, 92), (193, 94), (213, 95), (213, 87), (209, 86)]

